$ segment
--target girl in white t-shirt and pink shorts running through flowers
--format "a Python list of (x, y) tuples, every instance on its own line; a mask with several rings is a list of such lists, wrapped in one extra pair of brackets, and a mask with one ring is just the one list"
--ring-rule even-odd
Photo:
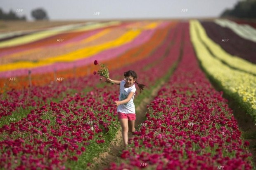
[(123, 144), (124, 147), (128, 145), (128, 130), (131, 133), (135, 132), (134, 123), (136, 119), (135, 105), (133, 103), (135, 95), (136, 83), (141, 90), (145, 87), (144, 84), (139, 84), (137, 81), (137, 74), (135, 71), (129, 70), (124, 73), (124, 80), (111, 80), (107, 79), (107, 82), (114, 82), (114, 84), (120, 85), (119, 101), (115, 102), (117, 106), (118, 119), (122, 127)]

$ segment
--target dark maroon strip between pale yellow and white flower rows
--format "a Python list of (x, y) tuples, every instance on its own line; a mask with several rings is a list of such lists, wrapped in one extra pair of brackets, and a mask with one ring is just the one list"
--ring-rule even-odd
[(251, 63), (256, 63), (256, 42), (246, 40), (234, 33), (230, 28), (222, 27), (214, 22), (202, 21), (201, 25), (204, 27), (208, 37), (229, 54), (243, 58)]

